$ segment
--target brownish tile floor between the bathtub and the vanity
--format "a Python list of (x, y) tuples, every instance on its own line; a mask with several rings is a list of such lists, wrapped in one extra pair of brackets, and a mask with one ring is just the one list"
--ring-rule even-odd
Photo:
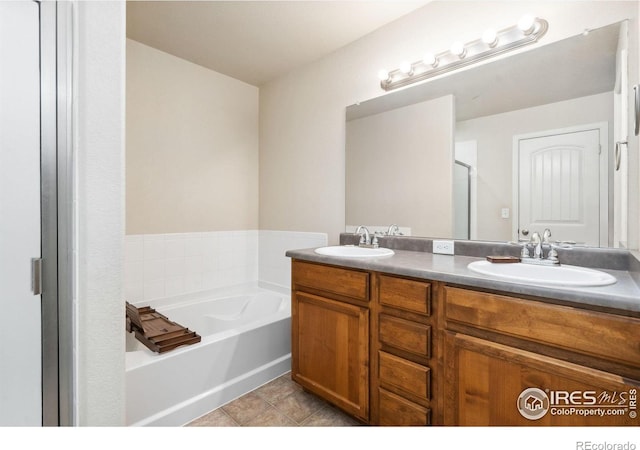
[(189, 427), (344, 427), (360, 422), (304, 391), (286, 373), (187, 424)]

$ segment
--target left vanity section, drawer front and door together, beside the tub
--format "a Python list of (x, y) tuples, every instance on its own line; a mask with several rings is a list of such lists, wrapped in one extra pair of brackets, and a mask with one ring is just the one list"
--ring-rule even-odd
[(291, 378), (369, 421), (367, 272), (292, 262)]

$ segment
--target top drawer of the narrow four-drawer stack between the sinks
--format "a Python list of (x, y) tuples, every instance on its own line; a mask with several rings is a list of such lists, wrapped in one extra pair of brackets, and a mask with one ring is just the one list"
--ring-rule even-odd
[(431, 315), (431, 284), (380, 275), (380, 304)]

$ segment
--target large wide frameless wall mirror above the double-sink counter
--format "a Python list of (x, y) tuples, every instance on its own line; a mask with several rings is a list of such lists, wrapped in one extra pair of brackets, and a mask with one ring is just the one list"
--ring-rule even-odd
[(554, 240), (619, 246), (626, 27), (349, 106), (346, 231), (397, 224), (405, 235), (505, 242), (548, 227)]

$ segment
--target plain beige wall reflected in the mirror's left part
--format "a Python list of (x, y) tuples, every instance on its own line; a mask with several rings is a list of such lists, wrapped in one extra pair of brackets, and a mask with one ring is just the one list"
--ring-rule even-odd
[(445, 95), (347, 123), (347, 230), (396, 223), (413, 236), (450, 236), (453, 102)]

